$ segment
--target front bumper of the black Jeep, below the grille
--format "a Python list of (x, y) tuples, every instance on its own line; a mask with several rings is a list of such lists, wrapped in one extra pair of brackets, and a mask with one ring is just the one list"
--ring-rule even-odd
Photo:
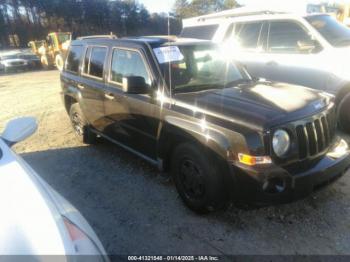
[(316, 163), (304, 163), (303, 168), (231, 166), (231, 177), (236, 185), (232, 196), (239, 202), (257, 205), (281, 204), (303, 198), (349, 169), (349, 150), (338, 152), (344, 142), (339, 140), (327, 155)]

